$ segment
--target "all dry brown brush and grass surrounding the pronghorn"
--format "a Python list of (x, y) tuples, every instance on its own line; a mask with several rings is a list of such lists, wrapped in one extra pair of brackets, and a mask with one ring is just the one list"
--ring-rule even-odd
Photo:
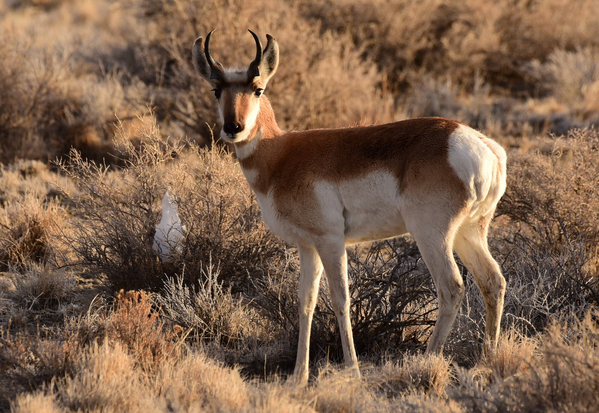
[[(0, 410), (593, 411), (599, 398), (599, 10), (593, 0), (5, 1), (0, 4)], [(362, 380), (323, 279), (310, 384), (296, 252), (265, 227), (190, 48), (225, 65), (277, 37), (290, 129), (447, 116), (509, 149), (490, 243), (497, 354), (466, 297), (445, 357), (417, 246), (350, 248)], [(553, 132), (553, 133), (550, 133)], [(217, 135), (217, 134), (214, 134)], [(209, 145), (205, 145), (209, 143)], [(60, 159), (56, 162), (56, 158)], [(170, 190), (183, 249), (152, 250)]]

